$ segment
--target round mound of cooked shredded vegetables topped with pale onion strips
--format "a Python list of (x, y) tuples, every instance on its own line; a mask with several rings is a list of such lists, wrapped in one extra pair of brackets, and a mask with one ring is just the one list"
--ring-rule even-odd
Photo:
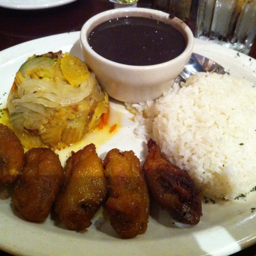
[(33, 55), (21, 65), (7, 107), (15, 129), (61, 148), (80, 141), (100, 123), (108, 95), (79, 58), (49, 52)]

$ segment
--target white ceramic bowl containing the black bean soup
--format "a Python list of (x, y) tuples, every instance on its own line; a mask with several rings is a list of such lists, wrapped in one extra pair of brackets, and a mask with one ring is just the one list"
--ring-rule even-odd
[[(186, 41), (185, 50), (173, 60), (149, 66), (120, 64), (93, 51), (87, 41), (92, 29), (104, 21), (126, 16), (146, 17), (169, 23), (183, 34)], [(170, 19), (167, 13), (147, 8), (120, 8), (101, 12), (82, 26), (80, 41), (84, 60), (95, 73), (102, 88), (114, 99), (130, 103), (160, 97), (184, 69), (194, 46), (193, 33), (182, 20), (176, 17)]]

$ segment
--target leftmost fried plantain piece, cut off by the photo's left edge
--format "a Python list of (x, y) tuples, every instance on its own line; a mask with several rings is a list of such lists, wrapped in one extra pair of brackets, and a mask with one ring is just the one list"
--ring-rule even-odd
[(11, 184), (24, 164), (24, 149), (10, 128), (0, 123), (0, 183)]

